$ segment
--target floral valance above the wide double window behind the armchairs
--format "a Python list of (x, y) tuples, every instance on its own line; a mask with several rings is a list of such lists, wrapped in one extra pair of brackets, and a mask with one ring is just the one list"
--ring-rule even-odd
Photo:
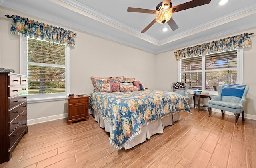
[(201, 45), (176, 50), (174, 53), (175, 59), (178, 60), (181, 58), (195, 57), (203, 54), (205, 55), (221, 51), (241, 49), (245, 47), (250, 47), (250, 44), (251, 39), (249, 37), (249, 33), (244, 33), (233, 37), (212, 41), (210, 43), (204, 43)]

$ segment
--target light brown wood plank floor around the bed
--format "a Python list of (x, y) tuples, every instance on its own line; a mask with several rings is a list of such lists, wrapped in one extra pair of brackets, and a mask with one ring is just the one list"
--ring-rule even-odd
[(1, 168), (255, 168), (256, 121), (192, 109), (164, 133), (129, 150), (116, 150), (92, 116), (29, 125)]

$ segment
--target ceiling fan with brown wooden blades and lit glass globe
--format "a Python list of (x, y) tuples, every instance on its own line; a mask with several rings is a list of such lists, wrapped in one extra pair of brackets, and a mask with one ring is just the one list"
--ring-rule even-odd
[(156, 18), (147, 25), (145, 29), (141, 31), (141, 33), (146, 32), (154, 23), (158, 22), (160, 24), (164, 24), (165, 22), (171, 27), (172, 31), (178, 29), (178, 25), (172, 19), (172, 13), (179, 12), (181, 10), (194, 8), (196, 6), (201, 6), (205, 4), (209, 4), (211, 0), (192, 0), (186, 2), (184, 4), (172, 6), (171, 0), (163, 0), (156, 6), (156, 10), (150, 9), (141, 9), (141, 8), (127, 8), (127, 12), (140, 12), (140, 13), (148, 13), (148, 14), (156, 14)]

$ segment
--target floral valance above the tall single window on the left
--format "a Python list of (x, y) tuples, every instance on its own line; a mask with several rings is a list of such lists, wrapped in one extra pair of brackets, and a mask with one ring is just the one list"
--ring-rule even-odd
[(11, 34), (74, 46), (74, 32), (12, 15)]

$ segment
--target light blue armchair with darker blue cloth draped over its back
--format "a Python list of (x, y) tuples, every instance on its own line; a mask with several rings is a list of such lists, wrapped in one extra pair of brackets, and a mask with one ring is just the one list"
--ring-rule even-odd
[(212, 100), (208, 101), (208, 112), (211, 115), (212, 108), (220, 109), (222, 115), (223, 111), (233, 112), (236, 116), (235, 124), (242, 113), (242, 120), (244, 121), (244, 104), (246, 101), (246, 94), (249, 86), (240, 84), (225, 84), (217, 86), (218, 95), (211, 96)]

